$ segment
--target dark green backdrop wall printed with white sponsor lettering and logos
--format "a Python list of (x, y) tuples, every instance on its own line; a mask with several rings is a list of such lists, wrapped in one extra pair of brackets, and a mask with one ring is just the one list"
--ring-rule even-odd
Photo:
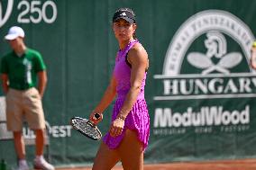
[[(256, 157), (256, 76), (250, 67), (256, 1), (247, 0), (1, 0), (0, 56), (11, 26), (46, 63), (43, 97), (55, 166), (91, 165), (100, 141), (71, 130), (69, 119), (88, 117), (113, 72), (119, 49), (112, 30), (120, 7), (136, 13), (137, 37), (150, 70), (146, 100), (151, 115), (145, 163)], [(0, 159), (16, 164), (12, 134), (5, 127), (0, 91)], [(108, 130), (112, 105), (99, 125)], [(32, 130), (23, 129), (34, 139)], [(34, 157), (33, 145), (27, 157)]]

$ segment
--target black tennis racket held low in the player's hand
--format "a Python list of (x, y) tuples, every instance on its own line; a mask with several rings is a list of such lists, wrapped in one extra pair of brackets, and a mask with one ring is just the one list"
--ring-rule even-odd
[[(93, 120), (98, 121), (100, 120), (101, 116), (101, 114), (95, 113)], [(70, 120), (70, 124), (75, 130), (78, 130), (89, 139), (99, 140), (102, 137), (102, 134), (96, 127), (96, 124), (85, 118), (73, 117)]]

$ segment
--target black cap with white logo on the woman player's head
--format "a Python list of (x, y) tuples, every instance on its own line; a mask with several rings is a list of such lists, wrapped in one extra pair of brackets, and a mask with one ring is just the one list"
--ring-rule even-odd
[(117, 10), (113, 15), (113, 22), (116, 22), (119, 19), (123, 19), (126, 22), (134, 23), (135, 22), (135, 14), (129, 8), (121, 8)]

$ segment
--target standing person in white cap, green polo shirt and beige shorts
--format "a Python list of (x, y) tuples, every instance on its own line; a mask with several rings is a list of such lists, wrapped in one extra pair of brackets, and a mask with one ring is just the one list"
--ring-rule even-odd
[(26, 47), (21, 27), (11, 27), (5, 40), (13, 50), (1, 58), (1, 78), (6, 95), (7, 130), (14, 133), (18, 170), (29, 170), (25, 158), (23, 121), (27, 121), (36, 136), (34, 168), (53, 170), (54, 166), (43, 157), (45, 120), (41, 98), (47, 84), (45, 64), (38, 51)]

